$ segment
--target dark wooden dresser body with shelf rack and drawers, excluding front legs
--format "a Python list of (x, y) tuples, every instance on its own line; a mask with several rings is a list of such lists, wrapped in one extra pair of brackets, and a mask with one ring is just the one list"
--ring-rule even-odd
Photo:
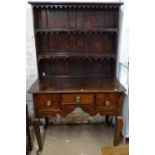
[(39, 75), (29, 90), (35, 117), (65, 117), (76, 107), (92, 116), (121, 115), (125, 89), (116, 64), (123, 3), (29, 3)]

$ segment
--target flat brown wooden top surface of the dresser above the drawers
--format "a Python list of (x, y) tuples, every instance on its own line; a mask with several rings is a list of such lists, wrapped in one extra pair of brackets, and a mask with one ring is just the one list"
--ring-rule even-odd
[(48, 80), (36, 80), (29, 93), (94, 93), (125, 92), (125, 88), (116, 79), (101, 77), (53, 77)]

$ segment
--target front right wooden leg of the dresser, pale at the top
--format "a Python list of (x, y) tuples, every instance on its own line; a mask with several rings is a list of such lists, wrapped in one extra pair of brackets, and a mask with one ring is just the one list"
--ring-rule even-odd
[(113, 141), (114, 146), (118, 145), (118, 143), (120, 142), (122, 128), (123, 128), (123, 119), (121, 116), (117, 116), (114, 141)]

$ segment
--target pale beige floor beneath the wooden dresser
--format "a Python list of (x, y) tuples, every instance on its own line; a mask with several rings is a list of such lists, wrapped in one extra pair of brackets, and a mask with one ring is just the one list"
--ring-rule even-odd
[(102, 155), (101, 148), (113, 145), (114, 126), (103, 124), (54, 125), (42, 129), (43, 151), (37, 153), (34, 139), (29, 155)]

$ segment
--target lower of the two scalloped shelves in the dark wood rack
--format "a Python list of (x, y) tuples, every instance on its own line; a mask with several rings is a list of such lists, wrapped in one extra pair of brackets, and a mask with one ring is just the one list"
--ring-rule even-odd
[(115, 59), (116, 54), (103, 54), (103, 53), (88, 53), (88, 52), (56, 52), (52, 54), (39, 54), (38, 55), (38, 61), (44, 60), (44, 59), (68, 59), (68, 58), (74, 58), (74, 59)]

